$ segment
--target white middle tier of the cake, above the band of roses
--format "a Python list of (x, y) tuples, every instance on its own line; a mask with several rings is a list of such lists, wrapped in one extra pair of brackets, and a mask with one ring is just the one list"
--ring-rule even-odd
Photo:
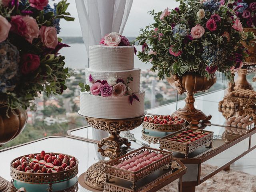
[(85, 72), (86, 76), (86, 84), (92, 86), (92, 83), (89, 81), (89, 76), (96, 80), (106, 80), (108, 81), (109, 78), (120, 78), (126, 82), (127, 78), (130, 76), (133, 78), (132, 81), (128, 84), (132, 92), (139, 92), (140, 91), (140, 69), (134, 68), (132, 70), (122, 70), (122, 71), (96, 71), (92, 70), (91, 68), (87, 68)]

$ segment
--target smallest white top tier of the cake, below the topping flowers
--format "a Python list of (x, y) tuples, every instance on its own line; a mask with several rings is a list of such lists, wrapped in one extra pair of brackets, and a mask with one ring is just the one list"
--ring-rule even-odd
[(89, 67), (98, 71), (131, 70), (134, 68), (134, 48), (132, 46), (90, 46)]

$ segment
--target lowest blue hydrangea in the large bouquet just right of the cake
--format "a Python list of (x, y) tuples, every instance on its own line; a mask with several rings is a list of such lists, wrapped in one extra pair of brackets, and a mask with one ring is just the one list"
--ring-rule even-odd
[(216, 48), (215, 46), (204, 46), (201, 57), (208, 66), (220, 66), (228, 58), (222, 48)]

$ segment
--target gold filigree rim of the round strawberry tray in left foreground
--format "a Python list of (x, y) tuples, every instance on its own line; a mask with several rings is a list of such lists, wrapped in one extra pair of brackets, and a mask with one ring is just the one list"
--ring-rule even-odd
[[(46, 153), (49, 154), (49, 153)], [(54, 153), (56, 158), (58, 158), (59, 153)], [(66, 155), (66, 154), (64, 154)], [(23, 155), (28, 157), (28, 155)], [(21, 160), (23, 156), (15, 158), (12, 162), (16, 160)], [(70, 155), (68, 155), (70, 156)], [(73, 156), (70, 156), (72, 158)], [(52, 173), (30, 173), (16, 170), (12, 167), (12, 162), (10, 163), (10, 176), (20, 182), (30, 183), (30, 184), (49, 184), (60, 183), (74, 178), (78, 174), (78, 160), (76, 159), (76, 165), (68, 170)]]

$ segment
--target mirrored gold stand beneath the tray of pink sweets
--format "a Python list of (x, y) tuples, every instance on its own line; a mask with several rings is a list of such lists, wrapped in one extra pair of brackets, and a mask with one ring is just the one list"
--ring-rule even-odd
[[(104, 192), (155, 192), (169, 183), (182, 178), (186, 173), (186, 167), (182, 162), (173, 159), (171, 168), (160, 168), (145, 176), (136, 183), (136, 188), (132, 188), (132, 182), (120, 178), (110, 178), (104, 182)], [(181, 179), (179, 180), (181, 182)]]

